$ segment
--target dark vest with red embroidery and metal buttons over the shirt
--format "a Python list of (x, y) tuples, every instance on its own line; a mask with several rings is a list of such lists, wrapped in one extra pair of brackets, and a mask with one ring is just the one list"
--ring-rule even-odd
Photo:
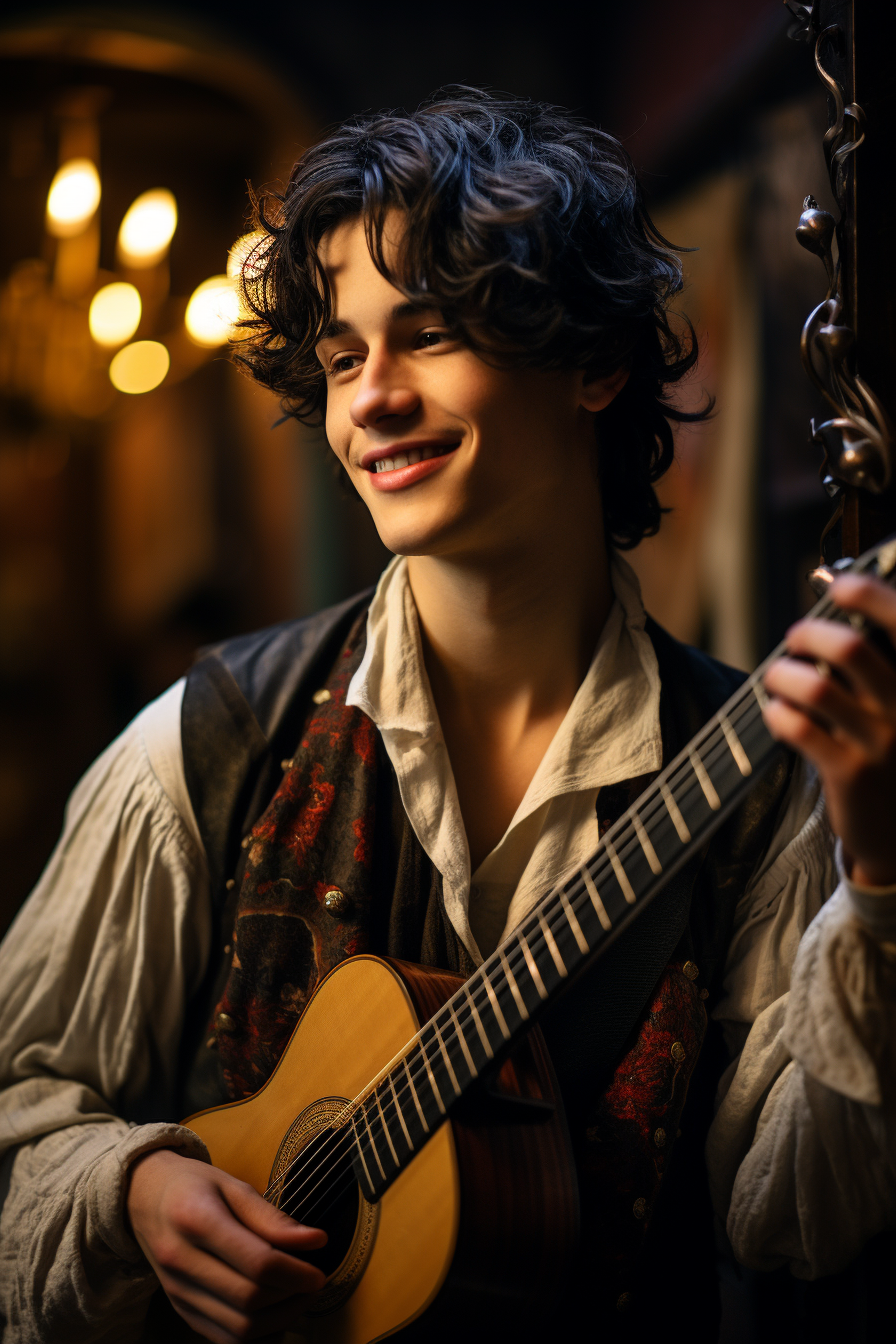
[[(184, 1113), (257, 1091), (314, 986), (345, 957), (371, 950), (462, 974), (473, 969), (445, 915), (441, 878), (400, 806), (379, 735), (344, 703), (363, 655), (365, 609), (363, 597), (312, 622), (234, 641), (211, 650), (188, 677), (187, 781), (206, 837), (223, 952), (211, 960), (191, 1012)], [(743, 676), (654, 622), (647, 629), (660, 663), (668, 759)], [(580, 1292), (570, 1310), (591, 1327), (602, 1318), (615, 1331), (615, 1313), (626, 1316), (635, 1301), (707, 1036), (705, 1004), (791, 769), (793, 759), (782, 757), (545, 1016), (583, 1207)], [(600, 790), (600, 833), (650, 778)], [(688, 1107), (697, 1142), (678, 1163), (689, 1172), (684, 1203), (693, 1215), (678, 1236), (695, 1245), (709, 1222), (700, 1134), (719, 1071), (709, 1060), (705, 1081), (697, 1079)], [(708, 1245), (705, 1259), (712, 1262)], [(666, 1257), (666, 1270), (669, 1263)]]

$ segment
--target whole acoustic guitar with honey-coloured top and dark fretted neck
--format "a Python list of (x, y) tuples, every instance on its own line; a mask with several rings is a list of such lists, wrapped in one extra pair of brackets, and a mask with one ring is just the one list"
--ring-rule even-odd
[[(896, 540), (852, 569), (892, 582)], [(827, 597), (811, 616), (848, 620)], [(216, 1167), (329, 1234), (300, 1339), (433, 1341), (465, 1321), (477, 1339), (514, 1321), (527, 1333), (560, 1290), (576, 1180), (539, 1015), (771, 762), (762, 676), (782, 652), (469, 980), (352, 957), (317, 986), (261, 1091), (185, 1121)]]

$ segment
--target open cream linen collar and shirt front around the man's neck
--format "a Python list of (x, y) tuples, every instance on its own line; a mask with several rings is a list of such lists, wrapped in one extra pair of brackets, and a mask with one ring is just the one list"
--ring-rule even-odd
[(367, 649), (345, 703), (379, 728), (408, 821), (442, 874), (447, 918), (477, 965), (566, 870), (598, 848), (598, 790), (662, 763), (660, 669), (638, 581), (619, 556), (613, 587), (584, 680), (506, 832), (474, 874), (406, 559), (387, 567), (371, 603)]

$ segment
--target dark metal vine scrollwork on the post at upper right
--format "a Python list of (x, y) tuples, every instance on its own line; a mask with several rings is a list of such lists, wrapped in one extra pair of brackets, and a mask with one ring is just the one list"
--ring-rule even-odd
[(856, 335), (845, 319), (841, 265), (849, 160), (865, 138), (865, 114), (857, 102), (845, 101), (842, 86), (822, 62), (825, 48), (837, 51), (842, 44), (842, 28), (838, 24), (821, 28), (818, 4), (785, 3), (794, 16), (789, 35), (814, 44), (815, 69), (830, 94), (830, 124), (822, 144), (840, 211), (840, 219), (834, 220), (813, 196), (806, 196), (797, 226), (799, 243), (821, 258), (827, 273), (827, 293), (806, 319), (801, 353), (809, 378), (836, 415), (822, 425), (813, 421), (811, 437), (825, 454), (822, 478), (829, 495), (840, 495), (842, 485), (880, 495), (893, 482), (893, 426), (877, 396), (856, 372)]

